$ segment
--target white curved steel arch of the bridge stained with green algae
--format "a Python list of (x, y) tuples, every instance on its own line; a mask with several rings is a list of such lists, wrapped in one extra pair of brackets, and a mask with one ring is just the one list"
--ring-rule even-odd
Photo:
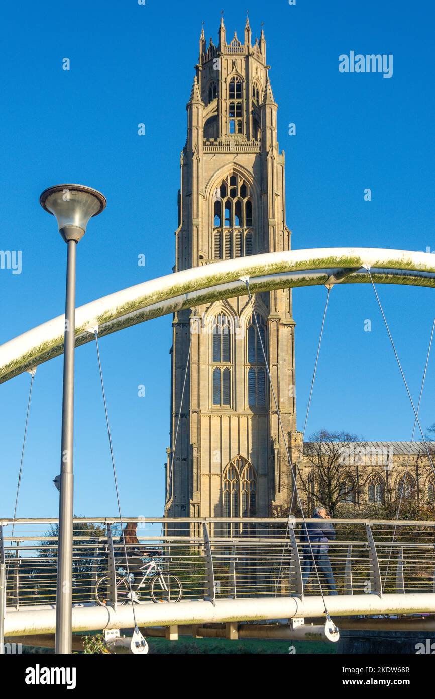
[[(364, 247), (291, 250), (206, 264), (136, 284), (87, 303), (75, 313), (75, 345), (168, 313), (223, 298), (318, 284), (370, 282), (435, 287), (435, 256)], [(64, 351), (64, 315), (0, 347), (0, 383)]]

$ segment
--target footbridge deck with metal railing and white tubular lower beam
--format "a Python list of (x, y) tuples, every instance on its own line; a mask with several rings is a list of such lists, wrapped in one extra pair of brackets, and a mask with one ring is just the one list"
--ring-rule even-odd
[[(295, 622), (325, 618), (325, 608), (331, 617), (435, 614), (434, 522), (333, 520), (332, 596), (320, 570), (303, 588), (301, 519), (127, 521), (138, 521), (140, 545), (156, 549), (158, 566), (182, 584), (179, 602), (154, 603), (145, 580), (134, 605), (142, 626)], [(117, 518), (74, 520), (74, 631), (133, 626), (131, 602), (120, 597), (116, 577), (120, 528)], [(54, 633), (57, 520), (0, 520), (0, 542), (7, 573), (4, 635)], [(98, 605), (96, 586), (105, 576), (107, 599)]]

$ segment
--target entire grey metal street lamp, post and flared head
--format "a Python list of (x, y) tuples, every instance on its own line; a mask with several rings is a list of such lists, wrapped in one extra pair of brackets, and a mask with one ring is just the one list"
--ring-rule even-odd
[(101, 192), (83, 185), (56, 185), (45, 189), (40, 204), (53, 214), (59, 233), (68, 246), (64, 331), (64, 389), (62, 397), (61, 478), (59, 538), (57, 551), (56, 649), (71, 654), (73, 609), (73, 441), (74, 441), (74, 348), (75, 348), (75, 257), (87, 223), (103, 211)]

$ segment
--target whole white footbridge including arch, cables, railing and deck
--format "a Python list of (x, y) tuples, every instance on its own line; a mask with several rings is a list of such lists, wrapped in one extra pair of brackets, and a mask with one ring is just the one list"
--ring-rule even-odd
[[(115, 487), (115, 460), (98, 338), (168, 313), (236, 296), (248, 296), (255, 319), (252, 294), (274, 289), (325, 285), (325, 310), (302, 433), (303, 443), (328, 298), (334, 285), (348, 283), (369, 283), (373, 287), (413, 411), (411, 442), (418, 427), (435, 474), (431, 452), (418, 417), (435, 321), (420, 398), (415, 408), (376, 291), (376, 284), (384, 283), (435, 287), (434, 256), (402, 250), (325, 248), (267, 253), (207, 264), (137, 284), (77, 309), (74, 329), (76, 347), (92, 341), (96, 343)], [(193, 328), (198, 327), (198, 317), (194, 314), (191, 324), (192, 338)], [(279, 435), (281, 438), (282, 433), (283, 448), (290, 463), (287, 435), (281, 421), (279, 401), (274, 391), (266, 349), (263, 347), (258, 327), (257, 333), (270, 382), (271, 399), (273, 398), (271, 407), (274, 406), (277, 412)], [(25, 371), (31, 375), (14, 519), (0, 519), (0, 552), (1, 558), (6, 562), (6, 637), (49, 634), (54, 632), (56, 626), (57, 521), (16, 519), (16, 512), (36, 367), (64, 352), (64, 337), (65, 317), (62, 315), (0, 347), (0, 383), (11, 380)], [(184, 385), (187, 374), (186, 371)], [(177, 450), (182, 406), (183, 394), (175, 438), (171, 445), (170, 474)], [(299, 461), (295, 466), (297, 475)], [(69, 484), (68, 492), (71, 494), (72, 485), (69, 480), (66, 483)], [(401, 498), (403, 493), (404, 485)], [(300, 501), (297, 476), (293, 498), (295, 496)], [(182, 597), (176, 603), (158, 603), (160, 600), (153, 601), (150, 592), (147, 596), (147, 587), (140, 596), (140, 603), (132, 605), (131, 601), (126, 603), (125, 596), (121, 598), (115, 571), (116, 543), (114, 545), (113, 541), (119, 539), (121, 529), (121, 506), (118, 498), (119, 519), (75, 519), (73, 630), (110, 630), (134, 626), (136, 632), (136, 621), (148, 627), (170, 628), (178, 624), (232, 624), (235, 621), (291, 619), (297, 626), (296, 621), (305, 618), (323, 617), (328, 623), (330, 615), (378, 617), (380, 614), (433, 614), (435, 524), (399, 521), (400, 504), (395, 522), (357, 519), (334, 521), (337, 537), (330, 543), (327, 553), (337, 591), (334, 595), (329, 594), (330, 585), (325, 586), (322, 570), (318, 570), (320, 566), (314, 566), (314, 575), (305, 586), (303, 584), (302, 570), (307, 559), (304, 561), (301, 520), (140, 519), (140, 540), (144, 547), (156, 547), (161, 552), (156, 556), (158, 565), (165, 571), (165, 575), (173, 575), (179, 579)], [(167, 505), (165, 502), (165, 512)], [(300, 502), (299, 505), (302, 507)], [(128, 518), (122, 517), (122, 520), (128, 521)], [(137, 521), (137, 518), (131, 521)], [(68, 519), (66, 524), (69, 523), (71, 519)], [(68, 563), (68, 575), (62, 583), (67, 586), (65, 591), (68, 595), (71, 591), (69, 533), (68, 528), (68, 555), (62, 559), (65, 565)], [(98, 605), (96, 586), (102, 577), (107, 577), (107, 594), (105, 603)], [(1, 586), (0, 582), (0, 592)], [(68, 600), (68, 607), (69, 605)], [(0, 605), (0, 612), (2, 606)], [(0, 621), (1, 617), (0, 613)], [(2, 633), (0, 628), (0, 637)]]

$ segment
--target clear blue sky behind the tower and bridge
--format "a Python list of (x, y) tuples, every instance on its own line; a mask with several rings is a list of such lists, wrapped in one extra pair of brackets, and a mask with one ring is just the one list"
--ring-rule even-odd
[[(434, 8), (429, 0), (223, 3), (228, 35), (265, 22), (267, 62), (286, 152), (293, 248), (435, 250)], [(179, 153), (201, 22), (217, 41), (221, 6), (147, 0), (45, 1), (2, 10), (3, 225), (0, 248), (22, 250), (22, 273), (0, 271), (0, 343), (64, 311), (66, 247), (38, 197), (58, 182), (101, 189), (108, 208), (78, 248), (77, 303), (169, 273), (174, 264)], [(392, 54), (390, 79), (339, 73), (339, 55)], [(62, 59), (71, 61), (62, 70)], [(138, 123), (146, 136), (138, 136)], [(297, 126), (288, 135), (288, 124)], [(159, 185), (163, 182), (163, 185)], [(364, 189), (372, 201), (364, 201)], [(145, 254), (145, 268), (137, 264)], [(435, 310), (432, 290), (378, 289), (413, 396)], [(298, 427), (302, 428), (325, 290), (293, 294)], [(370, 319), (371, 333), (364, 332)], [(169, 443), (171, 318), (101, 340), (121, 504), (161, 516)], [(422, 425), (435, 421), (435, 358)], [(57, 515), (62, 359), (36, 373), (21, 517)], [(145, 398), (138, 398), (145, 384)], [(0, 515), (11, 516), (29, 389), (0, 386)], [(115, 495), (94, 345), (76, 352), (75, 512), (114, 515)], [(409, 439), (413, 413), (369, 286), (332, 291), (308, 433)]]

